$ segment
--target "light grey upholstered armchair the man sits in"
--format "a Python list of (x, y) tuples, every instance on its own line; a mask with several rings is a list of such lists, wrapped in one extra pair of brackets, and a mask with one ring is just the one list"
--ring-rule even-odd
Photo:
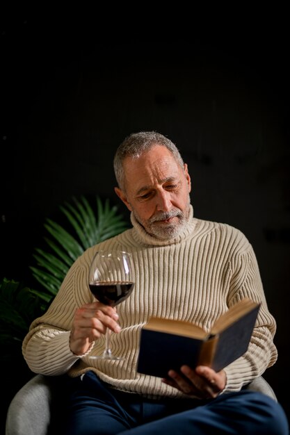
[[(273, 388), (258, 377), (245, 388), (261, 391), (277, 402)], [(6, 435), (47, 435), (56, 385), (52, 379), (35, 375), (13, 397), (6, 418)]]

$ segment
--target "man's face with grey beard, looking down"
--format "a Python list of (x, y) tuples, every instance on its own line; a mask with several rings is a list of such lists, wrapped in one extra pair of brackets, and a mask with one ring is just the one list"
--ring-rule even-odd
[(115, 188), (136, 220), (156, 238), (177, 236), (188, 220), (191, 178), (166, 147), (124, 161), (125, 192)]

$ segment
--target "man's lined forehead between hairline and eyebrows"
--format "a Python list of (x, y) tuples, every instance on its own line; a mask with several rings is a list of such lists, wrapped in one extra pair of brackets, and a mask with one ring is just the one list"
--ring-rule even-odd
[(179, 177), (182, 167), (166, 147), (156, 145), (138, 158), (124, 160), (124, 175), (127, 188), (139, 190), (150, 188), (166, 179)]

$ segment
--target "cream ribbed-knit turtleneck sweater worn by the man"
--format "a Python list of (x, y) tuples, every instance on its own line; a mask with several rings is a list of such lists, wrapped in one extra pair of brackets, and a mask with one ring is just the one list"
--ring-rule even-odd
[[(150, 315), (194, 322), (209, 330), (229, 306), (243, 297), (261, 302), (257, 325), (245, 355), (225, 368), (225, 391), (239, 391), (277, 359), (273, 344), (275, 320), (269, 313), (252, 246), (243, 233), (227, 224), (193, 217), (174, 240), (156, 240), (131, 216), (133, 228), (89, 248), (70, 271), (47, 313), (36, 319), (24, 339), (23, 354), (29, 368), (43, 375), (72, 377), (87, 370), (113, 388), (150, 397), (181, 397), (161, 379), (136, 372), (141, 327)], [(112, 350), (124, 361), (102, 361), (72, 354), (70, 329), (76, 308), (92, 302), (88, 269), (98, 248), (122, 249), (134, 259), (136, 284), (130, 297), (118, 305), (119, 334), (112, 333)], [(92, 353), (101, 354), (104, 339)], [(172, 349), (172, 352), (175, 352)]]

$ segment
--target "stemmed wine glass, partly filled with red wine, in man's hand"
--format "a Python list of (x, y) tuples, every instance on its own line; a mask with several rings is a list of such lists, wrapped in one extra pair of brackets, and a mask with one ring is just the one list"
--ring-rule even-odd
[[(116, 306), (127, 299), (134, 288), (131, 254), (122, 250), (97, 251), (90, 265), (88, 286), (102, 304)], [(92, 359), (122, 359), (112, 354), (111, 329), (106, 329), (106, 348)]]

